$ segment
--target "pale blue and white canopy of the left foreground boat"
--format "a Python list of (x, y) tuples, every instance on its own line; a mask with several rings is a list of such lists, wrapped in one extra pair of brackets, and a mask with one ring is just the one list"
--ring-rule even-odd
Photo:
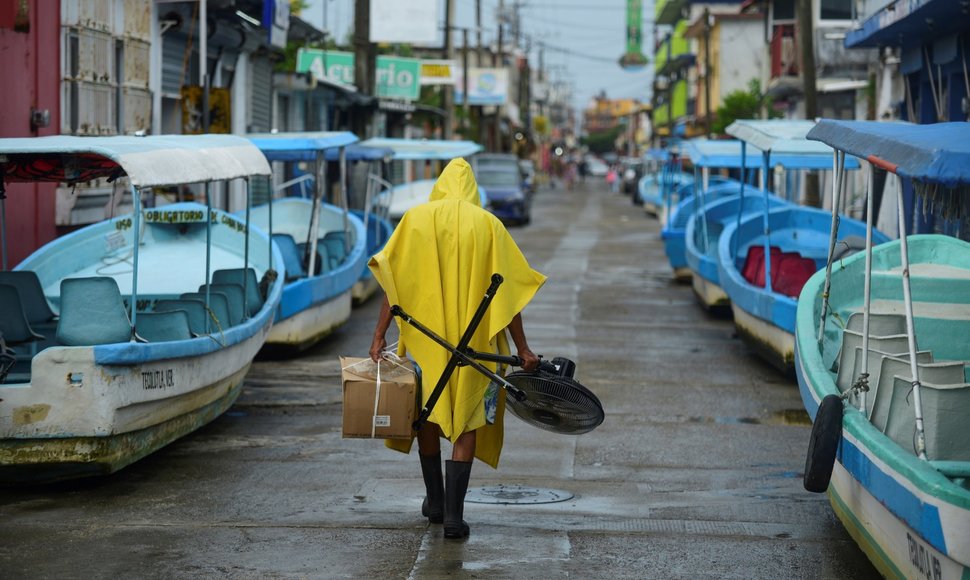
[(5, 181), (80, 183), (127, 176), (134, 187), (269, 175), (266, 157), (235, 135), (0, 139)]

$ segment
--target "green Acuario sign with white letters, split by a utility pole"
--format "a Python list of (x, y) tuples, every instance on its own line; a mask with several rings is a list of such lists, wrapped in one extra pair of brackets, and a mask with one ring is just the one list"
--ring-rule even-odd
[[(354, 54), (335, 50), (301, 48), (296, 56), (296, 72), (309, 72), (318, 79), (353, 84)], [(417, 100), (421, 93), (421, 61), (396, 56), (377, 57), (377, 97)]]

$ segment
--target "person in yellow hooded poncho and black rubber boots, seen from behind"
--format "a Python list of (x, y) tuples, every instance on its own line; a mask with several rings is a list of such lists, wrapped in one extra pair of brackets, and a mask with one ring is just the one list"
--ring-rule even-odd
[[(498, 289), (469, 347), (507, 354), (508, 329), (525, 370), (538, 366), (522, 325), (522, 309), (545, 282), (502, 223), (481, 208), (478, 184), (464, 159), (452, 160), (441, 172), (427, 203), (408, 210), (393, 235), (369, 263), (384, 288), (370, 356), (379, 360), (386, 348), (390, 305), (433, 332), (457, 344), (481, 303), (492, 274), (501, 274)], [(442, 375), (451, 353), (408, 324), (400, 324), (398, 353), (408, 353), (423, 376), (422, 404)], [(494, 363), (483, 363), (495, 370)], [(444, 523), (446, 538), (464, 538), (462, 520), (472, 460), (498, 467), (503, 442), (505, 393), (471, 367), (458, 367), (424, 427), (416, 433), (427, 496), (421, 513)], [(441, 475), (441, 437), (453, 444), (451, 461)], [(387, 446), (409, 452), (411, 441), (389, 440)]]

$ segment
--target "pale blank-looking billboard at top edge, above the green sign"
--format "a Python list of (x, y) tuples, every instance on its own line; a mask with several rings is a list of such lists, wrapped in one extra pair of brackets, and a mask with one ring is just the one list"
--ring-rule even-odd
[(370, 0), (370, 41), (435, 45), (438, 0)]

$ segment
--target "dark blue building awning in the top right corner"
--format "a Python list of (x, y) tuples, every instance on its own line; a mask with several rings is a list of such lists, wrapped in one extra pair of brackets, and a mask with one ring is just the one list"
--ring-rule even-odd
[(897, 0), (845, 37), (847, 48), (912, 46), (966, 30), (967, 13), (956, 0)]

